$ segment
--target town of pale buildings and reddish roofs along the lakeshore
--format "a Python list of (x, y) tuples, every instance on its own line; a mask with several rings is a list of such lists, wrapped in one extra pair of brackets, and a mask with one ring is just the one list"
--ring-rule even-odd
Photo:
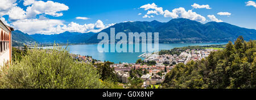
[[(164, 81), (164, 78), (176, 64), (184, 63), (193, 60), (202, 60), (208, 57), (210, 52), (217, 51), (215, 48), (193, 48), (179, 51), (179, 55), (163, 54), (160, 53), (143, 53), (144, 59), (138, 59), (136, 63), (119, 62), (119, 64), (111, 64), (110, 68), (114, 69), (117, 74), (118, 81), (122, 83), (123, 87), (129, 87), (129, 80), (132, 78), (141, 78), (143, 80), (143, 88), (158, 87)], [(104, 61), (94, 60), (91, 56), (74, 55), (71, 56), (80, 62), (86, 63), (102, 63)], [(138, 70), (134, 74), (134, 70)], [(138, 73), (141, 71), (140, 73)], [(131, 75), (134, 74), (134, 75)]]

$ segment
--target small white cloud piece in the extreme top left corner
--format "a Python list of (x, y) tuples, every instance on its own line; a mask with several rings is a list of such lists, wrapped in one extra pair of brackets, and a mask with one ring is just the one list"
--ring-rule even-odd
[(1, 0), (0, 2), (0, 17), (7, 15), (9, 10), (17, 5), (16, 0)]

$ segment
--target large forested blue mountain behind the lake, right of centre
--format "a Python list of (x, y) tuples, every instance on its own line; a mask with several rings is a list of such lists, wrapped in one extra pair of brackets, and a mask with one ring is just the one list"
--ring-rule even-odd
[[(256, 30), (254, 29), (241, 28), (224, 22), (203, 24), (185, 18), (172, 19), (166, 23), (156, 20), (118, 23), (101, 32), (106, 32), (110, 36), (112, 27), (115, 28), (115, 34), (118, 32), (126, 34), (128, 32), (159, 32), (159, 43), (217, 43), (234, 41), (240, 35), (245, 40), (256, 39)], [(88, 40), (89, 43), (98, 43), (98, 41), (100, 40), (97, 40), (97, 34)]]

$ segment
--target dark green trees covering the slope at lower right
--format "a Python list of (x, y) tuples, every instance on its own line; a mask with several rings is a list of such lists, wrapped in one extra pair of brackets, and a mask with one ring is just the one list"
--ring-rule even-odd
[(167, 73), (165, 88), (256, 88), (256, 41), (239, 37), (211, 52), (207, 59), (177, 64)]

